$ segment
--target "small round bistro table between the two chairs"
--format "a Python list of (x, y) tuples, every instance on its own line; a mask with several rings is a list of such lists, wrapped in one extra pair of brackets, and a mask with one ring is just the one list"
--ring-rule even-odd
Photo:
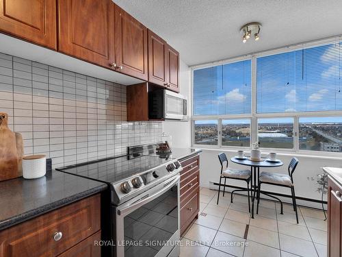
[[(258, 190), (258, 182), (259, 182), (259, 173), (260, 168), (274, 168), (274, 167), (280, 167), (282, 166), (282, 161), (278, 160), (276, 162), (274, 161), (267, 161), (265, 158), (261, 158), (260, 161), (250, 160), (248, 157), (246, 158), (237, 158), (233, 157), (231, 158), (231, 161), (237, 164), (241, 164), (244, 166), (249, 166), (251, 171), (251, 182), (252, 182), (252, 219), (254, 219), (254, 199), (255, 194)], [(263, 193), (264, 195), (267, 195)]]

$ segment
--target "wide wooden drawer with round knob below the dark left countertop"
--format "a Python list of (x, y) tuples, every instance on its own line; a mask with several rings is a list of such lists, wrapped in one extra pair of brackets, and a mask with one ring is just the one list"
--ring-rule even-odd
[[(100, 195), (94, 195), (0, 233), (0, 256), (57, 256), (101, 230)], [(62, 237), (55, 236), (62, 232)]]

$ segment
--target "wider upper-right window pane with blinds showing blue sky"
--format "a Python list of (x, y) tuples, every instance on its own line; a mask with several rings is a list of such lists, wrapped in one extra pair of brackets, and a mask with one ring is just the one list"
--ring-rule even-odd
[(257, 112), (342, 110), (342, 43), (257, 58)]

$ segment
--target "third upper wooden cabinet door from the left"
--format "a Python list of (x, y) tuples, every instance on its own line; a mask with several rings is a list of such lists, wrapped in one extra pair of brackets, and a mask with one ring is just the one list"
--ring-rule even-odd
[(147, 28), (115, 6), (115, 55), (121, 73), (147, 81)]

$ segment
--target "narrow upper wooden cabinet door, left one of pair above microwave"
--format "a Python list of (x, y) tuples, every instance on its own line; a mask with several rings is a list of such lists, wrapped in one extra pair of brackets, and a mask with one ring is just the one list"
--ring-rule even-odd
[(167, 86), (166, 81), (166, 42), (148, 30), (148, 82)]

